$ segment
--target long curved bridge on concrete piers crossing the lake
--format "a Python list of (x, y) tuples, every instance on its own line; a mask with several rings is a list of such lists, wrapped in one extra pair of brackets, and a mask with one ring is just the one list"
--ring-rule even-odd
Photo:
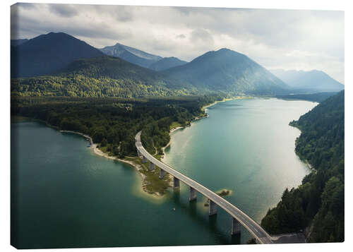
[(236, 206), (229, 203), (227, 200), (218, 196), (217, 193), (210, 191), (210, 189), (206, 188), (205, 186), (198, 184), (198, 182), (190, 179), (189, 176), (181, 174), (180, 172), (176, 171), (169, 165), (164, 164), (160, 160), (157, 160), (155, 157), (150, 155), (141, 143), (141, 131), (137, 133), (136, 139), (136, 148), (138, 152), (138, 157), (142, 157), (143, 163), (150, 162), (150, 170), (155, 169), (155, 167), (160, 167), (160, 179), (164, 177), (166, 173), (173, 176), (174, 188), (179, 188), (180, 181), (190, 187), (190, 196), (189, 200), (196, 200), (197, 194), (201, 193), (203, 196), (210, 200), (208, 214), (215, 215), (217, 214), (217, 206), (225, 210), (232, 216), (232, 235), (233, 234), (240, 234), (240, 227), (243, 226), (246, 230), (250, 232), (250, 234), (256, 239), (258, 244), (273, 244), (273, 239), (271, 238), (270, 234), (265, 232), (265, 230), (251, 217), (246, 215), (244, 212), (239, 210)]

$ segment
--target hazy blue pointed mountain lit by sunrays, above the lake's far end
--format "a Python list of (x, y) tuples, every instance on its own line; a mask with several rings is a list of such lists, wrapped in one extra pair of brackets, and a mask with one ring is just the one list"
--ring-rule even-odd
[(287, 85), (248, 56), (229, 49), (207, 52), (188, 64), (162, 71), (198, 90), (233, 95), (287, 94)]

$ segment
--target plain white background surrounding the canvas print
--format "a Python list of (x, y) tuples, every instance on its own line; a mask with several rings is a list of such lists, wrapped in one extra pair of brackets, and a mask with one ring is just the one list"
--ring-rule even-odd
[[(179, 246), (179, 247), (144, 247), (144, 248), (78, 248), (79, 251), (352, 251), (352, 4), (344, 0), (76, 0), (76, 1), (20, 1), (53, 4), (122, 4), (122, 5), (153, 5), (153, 6), (208, 6), (233, 8), (287, 8), (287, 9), (316, 9), (345, 11), (345, 242), (340, 244), (279, 244), (279, 245), (244, 245), (244, 246)], [(1, 1), (1, 161), (0, 164), (0, 249), (1, 251), (15, 251), (10, 246), (10, 6), (16, 1)], [(187, 228), (187, 227), (186, 227)], [(181, 230), (182, 232), (182, 230)], [(136, 239), (141, 235), (136, 232)], [(349, 248), (351, 247), (352, 248)], [(77, 251), (78, 249), (70, 249)], [(39, 251), (39, 250), (32, 250)], [(53, 249), (47, 251), (54, 251)], [(56, 250), (57, 251), (57, 250)], [(62, 251), (62, 250), (61, 250)], [(65, 250), (68, 251), (68, 250)]]

